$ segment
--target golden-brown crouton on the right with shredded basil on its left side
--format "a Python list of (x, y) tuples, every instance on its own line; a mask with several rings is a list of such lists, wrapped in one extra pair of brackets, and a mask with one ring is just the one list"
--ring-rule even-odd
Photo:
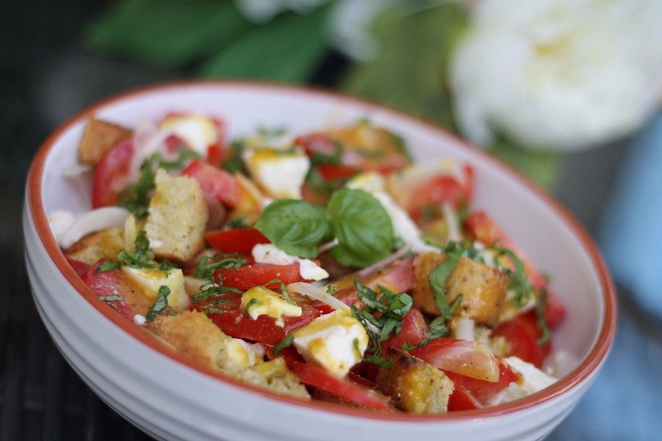
[(499, 321), (509, 285), (510, 276), (505, 272), (462, 257), (446, 280), (446, 299), (450, 303), (462, 294), (453, 315), (493, 327)]

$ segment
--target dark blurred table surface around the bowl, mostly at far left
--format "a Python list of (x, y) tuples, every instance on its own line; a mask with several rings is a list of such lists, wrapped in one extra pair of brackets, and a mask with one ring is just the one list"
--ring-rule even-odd
[[(23, 0), (3, 4), (0, 13), (0, 441), (149, 439), (66, 365), (37, 316), (23, 263), (23, 185), (47, 134), (108, 94), (188, 74), (81, 50), (81, 25), (98, 13), (99, 3)], [(332, 87), (342, 65), (332, 54), (312, 82)], [(589, 229), (622, 150), (616, 145), (564, 160), (556, 193)]]

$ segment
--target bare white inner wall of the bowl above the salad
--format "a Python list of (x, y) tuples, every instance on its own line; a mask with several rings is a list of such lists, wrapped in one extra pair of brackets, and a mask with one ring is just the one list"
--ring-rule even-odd
[[(285, 126), (292, 134), (303, 134), (368, 116), (401, 134), (416, 161), (448, 157), (470, 163), (476, 172), (473, 206), (485, 209), (539, 268), (552, 275), (552, 289), (566, 305), (568, 314), (554, 334), (554, 349), (565, 349), (581, 360), (599, 337), (605, 315), (604, 287), (594, 256), (583, 244), (583, 233), (519, 176), (454, 136), (354, 99), (243, 83), (146, 90), (97, 106), (94, 115), (134, 127), (143, 119), (154, 121), (173, 110), (219, 116), (228, 123), (230, 138), (249, 134), (260, 125)], [(90, 176), (63, 174), (77, 163), (77, 144), (88, 116), (92, 114), (81, 116), (61, 132), (46, 158), (41, 188), (46, 213), (90, 209)]]

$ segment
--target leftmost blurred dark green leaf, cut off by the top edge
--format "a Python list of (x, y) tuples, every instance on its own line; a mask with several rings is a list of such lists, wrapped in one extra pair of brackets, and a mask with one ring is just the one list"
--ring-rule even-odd
[(83, 33), (95, 52), (157, 68), (216, 54), (251, 28), (233, 1), (122, 0)]

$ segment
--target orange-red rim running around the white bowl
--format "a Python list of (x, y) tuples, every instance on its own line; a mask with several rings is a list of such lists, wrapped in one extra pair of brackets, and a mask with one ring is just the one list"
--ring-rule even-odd
[[(443, 136), (447, 139), (451, 139), (452, 142), (459, 145), (461, 148), (466, 148), (472, 150), (472, 152), (477, 153), (481, 156), (481, 159), (487, 161), (492, 167), (498, 168), (501, 172), (510, 176), (520, 185), (527, 187), (532, 191), (538, 198), (541, 199), (548, 207), (555, 212), (556, 215), (560, 216), (563, 222), (570, 227), (572, 232), (574, 232), (576, 238), (579, 239), (585, 251), (588, 252), (594, 267), (596, 268), (599, 276), (599, 281), (601, 283), (601, 288), (603, 292), (603, 302), (604, 302), (604, 313), (603, 313), (603, 323), (599, 331), (598, 338), (592, 345), (588, 354), (581, 360), (579, 365), (568, 375), (557, 380), (550, 387), (543, 389), (537, 393), (533, 393), (530, 396), (521, 398), (519, 400), (514, 400), (512, 402), (507, 402), (499, 404), (493, 407), (485, 407), (483, 409), (472, 409), (465, 411), (454, 411), (450, 413), (441, 413), (434, 415), (421, 415), (415, 413), (405, 413), (405, 412), (379, 412), (372, 411), (368, 409), (356, 409), (352, 407), (343, 406), (341, 404), (334, 404), (328, 402), (321, 402), (318, 400), (303, 400), (301, 398), (293, 398), (290, 396), (285, 396), (281, 393), (274, 391), (268, 391), (262, 389), (261, 387), (254, 386), (248, 382), (243, 382), (232, 378), (221, 371), (216, 371), (207, 367), (200, 362), (192, 360), (185, 356), (180, 351), (165, 345), (157, 338), (145, 333), (137, 325), (134, 325), (131, 322), (128, 322), (125, 318), (122, 318), (116, 312), (112, 311), (103, 301), (94, 294), (92, 289), (88, 287), (83, 280), (76, 274), (74, 269), (67, 262), (64, 254), (61, 252), (61, 249), (57, 245), (52, 232), (50, 231), (50, 226), (48, 224), (48, 218), (46, 210), (43, 205), (43, 198), (41, 194), (41, 187), (43, 182), (43, 172), (44, 166), (46, 163), (46, 158), (50, 153), (52, 146), (59, 140), (60, 136), (72, 127), (72, 125), (79, 123), (80, 121), (86, 120), (93, 116), (95, 112), (100, 110), (103, 107), (119, 103), (127, 99), (136, 99), (141, 95), (154, 94), (158, 92), (166, 92), (170, 90), (185, 90), (188, 88), (243, 88), (250, 90), (263, 90), (265, 92), (288, 92), (289, 94), (300, 94), (304, 96), (309, 96), (310, 98), (324, 98), (324, 99), (334, 99), (339, 103), (347, 103), (348, 105), (363, 105), (366, 109), (379, 110), (380, 112), (385, 112), (394, 116), (396, 119), (405, 121), (410, 125), (417, 127), (425, 128), (425, 130), (430, 130), (439, 136)], [(443, 422), (443, 421), (458, 421), (458, 420), (471, 420), (474, 418), (491, 418), (496, 416), (503, 416), (505, 414), (514, 413), (517, 411), (522, 411), (524, 409), (530, 409), (531, 407), (552, 400), (561, 396), (566, 391), (574, 388), (576, 385), (583, 382), (583, 380), (589, 378), (596, 369), (598, 369), (606, 358), (610, 351), (610, 347), (614, 340), (614, 334), (616, 330), (616, 290), (614, 288), (614, 283), (610, 276), (607, 266), (604, 263), (603, 258), (596, 245), (593, 243), (592, 238), (585, 231), (585, 229), (579, 224), (579, 222), (565, 209), (561, 203), (556, 201), (552, 196), (548, 195), (536, 184), (532, 183), (528, 178), (523, 176), (520, 172), (514, 170), (510, 165), (507, 165), (501, 162), (499, 159), (490, 156), (487, 152), (481, 150), (479, 147), (470, 144), (468, 141), (465, 141), (459, 136), (444, 130), (438, 125), (434, 125), (431, 121), (425, 121), (416, 116), (405, 114), (399, 110), (395, 110), (392, 107), (388, 107), (379, 103), (374, 103), (369, 100), (359, 99), (356, 96), (351, 96), (348, 94), (343, 94), (339, 92), (334, 92), (326, 90), (324, 88), (308, 86), (308, 85), (286, 85), (283, 83), (274, 83), (266, 81), (217, 81), (217, 80), (183, 80), (183, 81), (170, 81), (167, 83), (158, 83), (155, 85), (148, 85), (140, 88), (134, 88), (126, 92), (120, 92), (119, 94), (114, 94), (107, 99), (103, 99), (94, 103), (85, 110), (82, 110), (78, 114), (72, 116), (68, 121), (60, 125), (48, 138), (44, 141), (39, 147), (37, 154), (35, 154), (32, 164), (30, 165), (30, 170), (28, 171), (27, 179), (27, 205), (29, 209), (30, 216), (32, 216), (32, 221), (34, 227), (37, 231), (37, 236), (41, 240), (41, 245), (48, 256), (50, 256), (53, 263), (56, 265), (57, 269), (61, 274), (68, 280), (70, 285), (83, 296), (92, 307), (97, 309), (103, 316), (108, 320), (117, 325), (120, 329), (130, 334), (133, 338), (139, 340), (143, 343), (148, 349), (158, 351), (162, 355), (179, 362), (181, 365), (193, 369), (198, 373), (202, 373), (205, 376), (214, 378), (215, 380), (223, 380), (223, 382), (232, 384), (234, 387), (239, 387), (245, 391), (251, 391), (253, 393), (259, 394), (263, 398), (269, 398), (271, 400), (277, 400), (281, 402), (288, 402), (290, 404), (296, 404), (297, 406), (305, 407), (306, 409), (312, 410), (321, 410), (326, 412), (332, 412), (340, 414), (341, 416), (350, 416), (354, 418), (368, 418), (371, 420), (388, 420), (390, 422)]]

